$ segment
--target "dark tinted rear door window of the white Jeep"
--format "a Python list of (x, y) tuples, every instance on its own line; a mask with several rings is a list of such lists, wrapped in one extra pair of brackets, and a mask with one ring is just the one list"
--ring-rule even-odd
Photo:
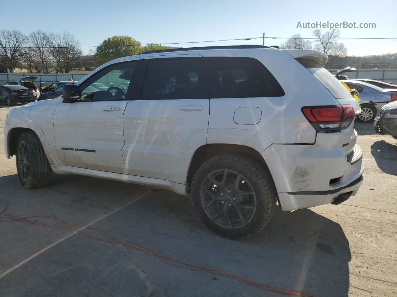
[(141, 100), (208, 98), (197, 58), (149, 60)]

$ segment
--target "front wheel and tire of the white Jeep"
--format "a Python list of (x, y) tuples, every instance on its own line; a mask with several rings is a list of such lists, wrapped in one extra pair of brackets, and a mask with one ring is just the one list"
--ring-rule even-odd
[(21, 133), (16, 152), (17, 173), (21, 185), (27, 189), (47, 185), (52, 169), (36, 133)]

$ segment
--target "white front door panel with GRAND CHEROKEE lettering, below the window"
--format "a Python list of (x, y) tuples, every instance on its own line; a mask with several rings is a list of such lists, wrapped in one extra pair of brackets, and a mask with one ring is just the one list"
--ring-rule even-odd
[[(129, 103), (127, 100), (61, 102), (54, 112), (58, 164), (128, 173), (121, 154), (121, 148), (124, 146), (123, 112), (127, 103)], [(102, 110), (110, 106), (118, 107), (119, 110), (114, 112)], [(78, 149), (95, 150), (95, 152)]]

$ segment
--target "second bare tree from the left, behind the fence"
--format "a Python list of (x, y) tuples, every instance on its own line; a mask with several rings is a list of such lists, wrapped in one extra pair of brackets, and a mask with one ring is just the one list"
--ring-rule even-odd
[(32, 45), (33, 53), (39, 63), (42, 73), (49, 72), (50, 57), (49, 57), (49, 45), (50, 40), (48, 34), (42, 30), (37, 30), (29, 34), (29, 41)]

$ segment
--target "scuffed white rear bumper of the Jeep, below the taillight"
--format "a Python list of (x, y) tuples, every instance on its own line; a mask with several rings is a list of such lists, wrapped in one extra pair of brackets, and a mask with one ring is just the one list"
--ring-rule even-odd
[(319, 134), (314, 145), (272, 145), (262, 156), (283, 211), (332, 203), (349, 192), (355, 195), (362, 183), (362, 150), (355, 144), (347, 155), (337, 133)]

